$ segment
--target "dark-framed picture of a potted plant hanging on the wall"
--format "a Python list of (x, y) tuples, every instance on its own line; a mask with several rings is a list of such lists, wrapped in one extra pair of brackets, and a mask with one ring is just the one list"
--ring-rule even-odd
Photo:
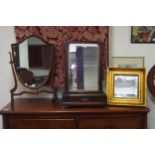
[(132, 26), (131, 43), (155, 43), (155, 26)]

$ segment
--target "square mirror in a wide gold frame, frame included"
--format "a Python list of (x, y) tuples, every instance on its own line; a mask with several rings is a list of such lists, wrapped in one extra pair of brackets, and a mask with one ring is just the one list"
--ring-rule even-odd
[(108, 68), (109, 105), (146, 106), (144, 68)]

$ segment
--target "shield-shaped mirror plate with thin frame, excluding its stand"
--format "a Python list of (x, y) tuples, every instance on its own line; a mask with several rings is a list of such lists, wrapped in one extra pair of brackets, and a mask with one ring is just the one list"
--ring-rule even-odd
[(31, 36), (13, 44), (12, 50), (19, 80), (30, 88), (42, 86), (52, 67), (54, 46)]

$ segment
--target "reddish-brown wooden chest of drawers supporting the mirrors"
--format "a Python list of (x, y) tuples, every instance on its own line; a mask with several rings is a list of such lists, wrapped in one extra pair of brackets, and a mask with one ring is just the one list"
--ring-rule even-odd
[(49, 99), (15, 99), (0, 114), (5, 129), (144, 129), (145, 107), (69, 107)]

